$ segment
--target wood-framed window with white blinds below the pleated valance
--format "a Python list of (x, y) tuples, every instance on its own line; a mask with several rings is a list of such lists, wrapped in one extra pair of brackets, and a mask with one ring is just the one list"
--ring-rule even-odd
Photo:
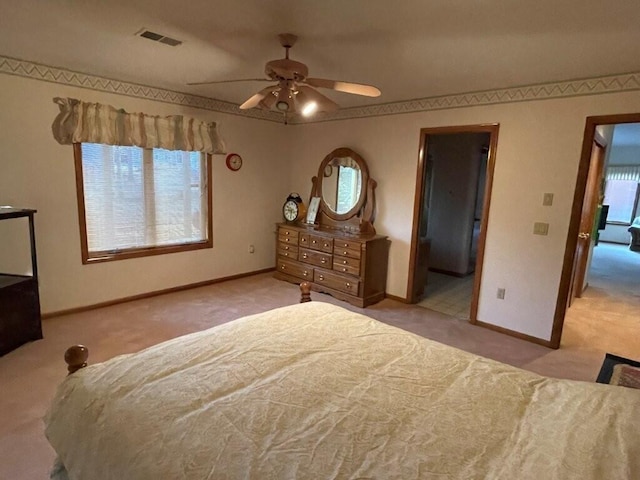
[(75, 144), (83, 263), (211, 248), (210, 157)]

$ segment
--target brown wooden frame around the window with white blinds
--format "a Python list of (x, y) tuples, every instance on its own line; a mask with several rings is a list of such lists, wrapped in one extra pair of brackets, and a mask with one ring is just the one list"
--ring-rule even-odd
[(212, 188), (212, 155), (204, 154), (205, 181), (207, 187), (207, 238), (195, 242), (186, 242), (173, 245), (160, 245), (153, 247), (133, 247), (100, 254), (90, 253), (87, 241), (87, 220), (84, 203), (84, 172), (82, 167), (82, 143), (73, 144), (73, 156), (76, 171), (76, 193), (78, 201), (78, 220), (80, 225), (80, 251), (82, 264), (90, 265), (94, 263), (112, 262), (115, 260), (126, 260), (129, 258), (148, 257), (152, 255), (164, 255), (177, 252), (188, 252), (213, 248), (213, 188)]

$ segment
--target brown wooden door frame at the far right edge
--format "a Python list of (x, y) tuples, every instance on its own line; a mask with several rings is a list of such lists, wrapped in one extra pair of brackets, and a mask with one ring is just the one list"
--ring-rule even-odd
[(560, 348), (562, 329), (564, 327), (564, 317), (569, 303), (569, 291), (573, 277), (573, 265), (578, 245), (578, 233), (580, 232), (580, 217), (582, 216), (582, 205), (587, 188), (587, 176), (591, 163), (591, 149), (596, 140), (596, 127), (599, 125), (616, 125), (619, 123), (640, 123), (640, 113), (624, 113), (618, 115), (598, 115), (587, 117), (584, 126), (582, 140), (582, 153), (578, 165), (578, 175), (576, 178), (576, 188), (573, 194), (573, 205), (571, 207), (571, 218), (569, 220), (569, 231), (565, 244), (564, 259), (562, 262), (562, 272), (560, 274), (560, 285), (558, 287), (558, 298), (556, 300), (556, 311), (553, 317), (553, 328), (551, 330), (551, 348)]

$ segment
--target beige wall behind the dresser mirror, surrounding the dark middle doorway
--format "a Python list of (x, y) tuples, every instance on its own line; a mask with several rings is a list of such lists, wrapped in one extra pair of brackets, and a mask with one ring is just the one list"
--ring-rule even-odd
[[(391, 239), (387, 292), (406, 297), (420, 128), (499, 123), (478, 319), (549, 340), (585, 119), (638, 111), (631, 92), (291, 126), (291, 189), (308, 192), (332, 149), (360, 153), (378, 181), (376, 229)], [(548, 236), (533, 235), (534, 222), (549, 223)]]

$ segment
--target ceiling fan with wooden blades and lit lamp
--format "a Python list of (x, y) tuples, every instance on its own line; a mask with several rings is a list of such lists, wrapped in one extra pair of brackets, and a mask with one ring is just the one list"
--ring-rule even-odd
[(277, 82), (263, 88), (258, 93), (246, 100), (240, 109), (261, 108), (270, 110), (275, 108), (285, 114), (300, 113), (304, 116), (312, 115), (315, 112), (330, 112), (338, 109), (338, 104), (318, 92), (315, 88), (327, 88), (338, 92), (364, 95), (366, 97), (380, 96), (380, 90), (372, 85), (361, 83), (342, 82), (337, 80), (327, 80), (324, 78), (308, 77), (309, 69), (304, 63), (296, 62), (289, 58), (289, 49), (293, 47), (298, 39), (290, 33), (278, 35), (280, 44), (285, 48), (285, 58), (271, 60), (265, 65), (264, 73), (269, 78), (245, 78), (238, 80), (220, 80), (211, 82), (194, 82), (187, 85), (210, 85), (215, 83), (231, 82)]

